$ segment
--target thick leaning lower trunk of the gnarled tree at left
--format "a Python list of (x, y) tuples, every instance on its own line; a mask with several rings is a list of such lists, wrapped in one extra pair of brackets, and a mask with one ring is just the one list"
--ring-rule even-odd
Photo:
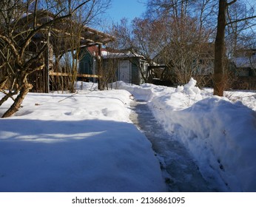
[(5, 112), (1, 118), (10, 117), (11, 115), (18, 112), (18, 109), (21, 107), (22, 101), (24, 100), (24, 98), (27, 95), (27, 93), (29, 92), (29, 90), (32, 88), (33, 88), (33, 86), (31, 84), (27, 84), (27, 83), (24, 84), (24, 86), (22, 86), (21, 91), (19, 92), (17, 98), (15, 99), (13, 105), (10, 106), (10, 109), (8, 109), (7, 112)]

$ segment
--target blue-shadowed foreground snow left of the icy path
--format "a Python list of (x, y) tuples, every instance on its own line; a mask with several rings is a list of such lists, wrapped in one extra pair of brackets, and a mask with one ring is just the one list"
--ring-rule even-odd
[(131, 123), (8, 119), (0, 136), (0, 191), (165, 190), (151, 144)]

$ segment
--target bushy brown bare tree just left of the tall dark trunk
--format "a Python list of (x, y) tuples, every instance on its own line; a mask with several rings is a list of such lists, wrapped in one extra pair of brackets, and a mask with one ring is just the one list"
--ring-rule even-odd
[[(209, 39), (214, 30), (209, 24), (212, 23), (210, 16), (214, 7), (210, 0), (149, 1), (147, 16), (163, 25), (154, 40), (158, 42), (155, 47), (159, 53), (158, 63), (166, 65), (162, 77), (183, 84), (197, 76), (198, 84), (203, 86), (206, 83), (206, 71), (212, 73), (209, 66), (214, 51)], [(152, 31), (155, 32), (155, 28)]]

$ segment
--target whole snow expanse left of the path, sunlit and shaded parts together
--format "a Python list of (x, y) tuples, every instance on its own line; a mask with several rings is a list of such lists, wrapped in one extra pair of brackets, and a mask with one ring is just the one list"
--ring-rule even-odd
[(166, 191), (130, 101), (125, 90), (29, 93), (0, 119), (0, 191)]

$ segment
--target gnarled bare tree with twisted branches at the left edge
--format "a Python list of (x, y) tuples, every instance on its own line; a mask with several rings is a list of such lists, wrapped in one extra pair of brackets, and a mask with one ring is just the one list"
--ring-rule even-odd
[[(81, 8), (86, 14), (83, 16), (84, 22), (89, 22), (98, 13), (96, 5), (102, 7), (101, 2), (107, 5), (109, 0), (79, 0), (72, 3), (67, 0), (1, 1), (0, 92), (4, 93), (4, 97), (1, 98), (0, 106), (8, 98), (13, 98), (13, 104), (2, 118), (13, 115), (20, 108), (27, 92), (33, 87), (28, 76), (47, 66), (44, 60), (48, 59), (45, 54), (49, 50), (50, 33), (53, 30), (56, 33), (55, 28), (65, 30), (64, 27), (59, 28), (59, 25), (64, 25), (64, 19), (73, 20), (75, 12)], [(74, 47), (78, 48), (77, 44)]]

